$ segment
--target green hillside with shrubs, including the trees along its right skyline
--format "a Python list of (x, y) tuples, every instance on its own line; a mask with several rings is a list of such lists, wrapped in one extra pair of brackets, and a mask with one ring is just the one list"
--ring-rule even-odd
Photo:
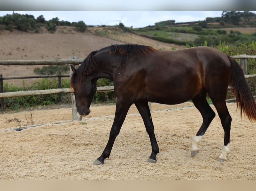
[[(239, 45), (256, 41), (256, 33), (246, 34), (225, 28), (256, 27), (256, 14), (249, 11), (223, 11), (222, 17), (207, 17), (204, 21), (175, 23), (174, 20), (161, 21), (155, 26), (148, 26), (133, 31), (141, 36), (165, 43), (177, 45), (217, 46), (220, 41)], [(173, 34), (174, 33), (174, 34)]]

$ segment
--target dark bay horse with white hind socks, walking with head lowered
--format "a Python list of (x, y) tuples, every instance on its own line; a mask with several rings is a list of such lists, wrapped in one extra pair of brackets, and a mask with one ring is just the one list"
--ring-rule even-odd
[(129, 107), (135, 103), (149, 135), (152, 153), (148, 162), (156, 162), (159, 148), (148, 101), (178, 104), (192, 100), (203, 117), (203, 123), (193, 139), (191, 155), (199, 152), (198, 145), (215, 117), (206, 96), (212, 99), (224, 129), (224, 147), (219, 161), (226, 161), (230, 152), (231, 116), (226, 105), (230, 85), (237, 97), (237, 107), (249, 120), (256, 120), (256, 104), (238, 63), (226, 54), (209, 47), (194, 47), (177, 51), (160, 51), (142, 45), (112, 45), (91, 52), (75, 69), (71, 66), (71, 90), (75, 94), (77, 111), (90, 113), (96, 93), (96, 81), (114, 81), (117, 96), (114, 122), (108, 143), (94, 164), (104, 164), (109, 157)]

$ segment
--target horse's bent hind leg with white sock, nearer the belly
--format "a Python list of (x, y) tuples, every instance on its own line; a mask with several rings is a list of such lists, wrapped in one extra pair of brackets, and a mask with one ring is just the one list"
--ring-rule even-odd
[(194, 137), (191, 146), (191, 156), (195, 156), (195, 154), (199, 152), (198, 145), (200, 144), (203, 135), (205, 134), (207, 128), (215, 117), (215, 112), (212, 110), (207, 102), (206, 93), (203, 93), (202, 95), (197, 95), (192, 99), (192, 101), (203, 117), (203, 123), (198, 133)]

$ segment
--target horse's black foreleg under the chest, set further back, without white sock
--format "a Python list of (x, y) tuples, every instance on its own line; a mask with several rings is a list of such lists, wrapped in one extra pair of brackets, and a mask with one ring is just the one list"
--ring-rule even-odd
[(149, 135), (150, 142), (151, 142), (152, 153), (151, 153), (150, 157), (148, 158), (147, 162), (155, 163), (156, 162), (156, 154), (159, 153), (159, 148), (158, 148), (157, 141), (155, 138), (154, 125), (152, 122), (152, 117), (150, 114), (148, 102), (135, 103), (135, 105), (143, 119), (143, 122), (145, 124), (146, 130)]

